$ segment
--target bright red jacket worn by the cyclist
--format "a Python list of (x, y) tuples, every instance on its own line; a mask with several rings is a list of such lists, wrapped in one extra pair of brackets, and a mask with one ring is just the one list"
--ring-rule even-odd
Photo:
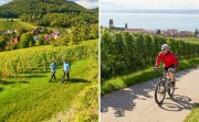
[(165, 67), (169, 67), (170, 65), (176, 65), (178, 68), (178, 60), (174, 53), (168, 52), (167, 54), (163, 54), (163, 52), (159, 53), (159, 55), (156, 58), (156, 66), (159, 66), (159, 62), (164, 63)]

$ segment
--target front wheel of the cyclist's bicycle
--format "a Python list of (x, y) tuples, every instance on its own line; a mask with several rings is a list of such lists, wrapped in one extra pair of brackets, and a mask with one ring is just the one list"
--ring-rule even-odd
[(166, 86), (165, 82), (159, 81), (156, 90), (155, 90), (155, 101), (157, 104), (161, 104), (165, 100), (165, 96), (166, 96)]

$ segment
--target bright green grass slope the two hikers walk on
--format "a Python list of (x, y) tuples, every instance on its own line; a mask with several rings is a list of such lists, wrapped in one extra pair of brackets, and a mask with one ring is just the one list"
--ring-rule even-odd
[(0, 121), (40, 122), (70, 109), (75, 96), (93, 84), (88, 80), (92, 77), (90, 65), (90, 59), (72, 64), (71, 80), (63, 84), (60, 84), (61, 66), (53, 82), (49, 82), (51, 73), (23, 74), (24, 81), (14, 81), (13, 78), (0, 81)]

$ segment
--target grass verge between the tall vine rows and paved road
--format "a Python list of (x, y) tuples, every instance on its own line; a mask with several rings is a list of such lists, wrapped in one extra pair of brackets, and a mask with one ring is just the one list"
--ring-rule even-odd
[[(182, 60), (179, 64), (179, 70), (193, 68), (196, 66), (199, 66), (199, 58)], [(112, 78), (102, 84), (101, 95), (104, 96), (115, 90), (144, 82), (159, 76), (161, 76), (161, 74), (154, 71), (153, 67), (149, 67), (145, 70), (139, 70), (123, 77)]]

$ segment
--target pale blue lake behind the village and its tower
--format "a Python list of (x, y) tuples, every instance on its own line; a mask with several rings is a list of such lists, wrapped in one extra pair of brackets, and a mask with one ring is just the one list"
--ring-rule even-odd
[(108, 26), (109, 19), (114, 20), (114, 26), (128, 29), (195, 31), (199, 29), (199, 14), (190, 13), (101, 13), (101, 25)]

